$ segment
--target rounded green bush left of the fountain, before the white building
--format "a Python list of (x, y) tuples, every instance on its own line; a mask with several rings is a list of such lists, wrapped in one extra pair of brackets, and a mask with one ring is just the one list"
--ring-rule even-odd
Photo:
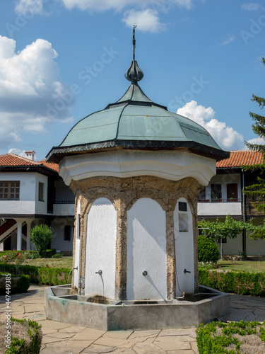
[(53, 238), (52, 229), (46, 224), (36, 225), (31, 229), (30, 239), (40, 256), (44, 256), (45, 251)]

